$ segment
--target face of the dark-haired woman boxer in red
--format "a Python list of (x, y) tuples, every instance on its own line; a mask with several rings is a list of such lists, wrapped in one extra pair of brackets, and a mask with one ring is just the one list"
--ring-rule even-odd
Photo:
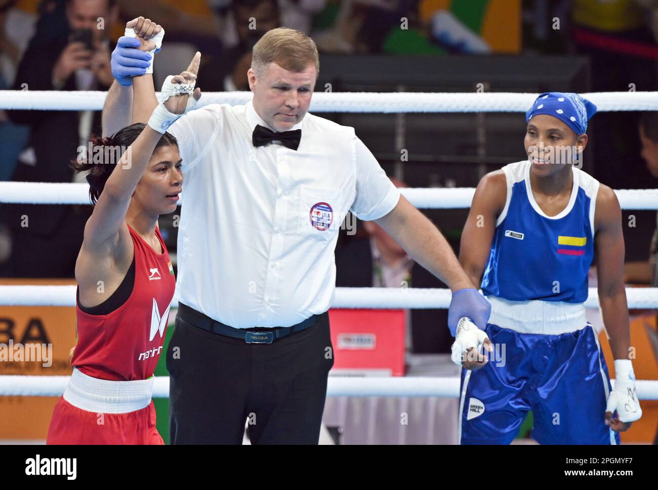
[(183, 184), (182, 160), (178, 146), (161, 146), (153, 151), (144, 175), (139, 179), (132, 198), (148, 214), (161, 215), (176, 211), (178, 194)]

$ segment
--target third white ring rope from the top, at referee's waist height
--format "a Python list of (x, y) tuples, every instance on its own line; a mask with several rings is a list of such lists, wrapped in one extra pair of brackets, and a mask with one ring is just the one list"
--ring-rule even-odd
[[(445, 288), (336, 288), (332, 308), (448, 308)], [(658, 288), (626, 288), (628, 308), (658, 308)], [(0, 306), (76, 306), (76, 286), (0, 286)], [(174, 298), (172, 308), (178, 306)], [(596, 288), (590, 288), (586, 308), (598, 308)]]

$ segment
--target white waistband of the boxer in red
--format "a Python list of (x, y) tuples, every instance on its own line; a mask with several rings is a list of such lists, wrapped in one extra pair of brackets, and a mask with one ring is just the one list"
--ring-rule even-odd
[(153, 378), (138, 381), (109, 381), (88, 376), (73, 368), (64, 400), (87, 412), (126, 414), (151, 403)]

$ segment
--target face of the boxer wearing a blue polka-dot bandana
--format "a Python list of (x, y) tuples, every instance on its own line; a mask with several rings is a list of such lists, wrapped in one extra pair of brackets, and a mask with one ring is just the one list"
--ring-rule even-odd
[(577, 163), (576, 154), (587, 145), (587, 134), (576, 134), (557, 117), (540, 114), (528, 121), (524, 140), (532, 173), (537, 177), (553, 175), (567, 163)]

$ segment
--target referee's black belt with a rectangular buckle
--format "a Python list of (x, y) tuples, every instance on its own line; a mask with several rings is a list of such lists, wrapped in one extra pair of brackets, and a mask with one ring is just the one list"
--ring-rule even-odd
[(199, 327), (200, 329), (218, 335), (226, 335), (226, 337), (242, 339), (247, 342), (247, 344), (271, 344), (274, 340), (288, 337), (291, 333), (301, 332), (309, 327), (313, 327), (318, 319), (326, 314), (327, 313), (324, 312), (320, 315), (313, 315), (291, 327), (273, 327), (271, 329), (265, 327), (254, 327), (251, 330), (236, 329), (235, 327), (230, 327), (229, 325), (224, 325), (224, 323), (213, 320), (211, 317), (204, 315), (201, 312), (197, 312), (194, 308), (190, 308), (190, 306), (178, 303), (178, 315), (180, 315), (184, 321), (195, 327)]

